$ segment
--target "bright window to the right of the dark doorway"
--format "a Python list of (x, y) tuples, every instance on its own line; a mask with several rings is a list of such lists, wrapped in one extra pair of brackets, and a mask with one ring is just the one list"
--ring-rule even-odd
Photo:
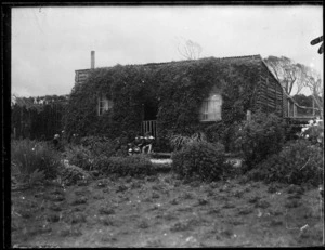
[(222, 97), (220, 94), (213, 94), (204, 100), (200, 109), (200, 121), (221, 120)]

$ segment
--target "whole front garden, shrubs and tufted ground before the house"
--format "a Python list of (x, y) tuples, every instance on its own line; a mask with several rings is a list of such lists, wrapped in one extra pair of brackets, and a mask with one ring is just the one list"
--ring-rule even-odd
[(322, 246), (320, 131), (285, 141), (282, 121), (260, 114), (236, 126), (232, 154), (200, 132), (176, 134), (161, 161), (105, 137), (13, 141), (12, 245)]

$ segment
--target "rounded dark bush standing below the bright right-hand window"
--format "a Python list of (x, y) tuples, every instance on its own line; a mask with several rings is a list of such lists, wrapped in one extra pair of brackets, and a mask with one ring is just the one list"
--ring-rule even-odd
[(193, 142), (172, 154), (172, 170), (185, 179), (219, 180), (226, 167), (224, 146), (218, 143)]

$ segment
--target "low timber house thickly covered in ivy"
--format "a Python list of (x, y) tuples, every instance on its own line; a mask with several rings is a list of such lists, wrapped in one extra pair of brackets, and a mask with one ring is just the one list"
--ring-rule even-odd
[[(261, 109), (285, 116), (286, 95), (260, 55), (76, 70), (66, 131), (133, 137), (229, 130)], [(231, 132), (230, 132), (231, 133)]]

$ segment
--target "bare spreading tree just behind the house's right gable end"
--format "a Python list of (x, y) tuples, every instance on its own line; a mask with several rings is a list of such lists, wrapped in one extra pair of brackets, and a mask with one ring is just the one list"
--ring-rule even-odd
[(294, 85), (297, 87), (297, 92), (295, 94), (300, 93), (303, 89), (303, 75), (300, 64), (296, 64), (294, 61), (285, 56), (276, 57), (272, 55), (265, 58), (264, 62), (268, 64), (270, 70), (277, 78), (288, 95), (292, 94)]

